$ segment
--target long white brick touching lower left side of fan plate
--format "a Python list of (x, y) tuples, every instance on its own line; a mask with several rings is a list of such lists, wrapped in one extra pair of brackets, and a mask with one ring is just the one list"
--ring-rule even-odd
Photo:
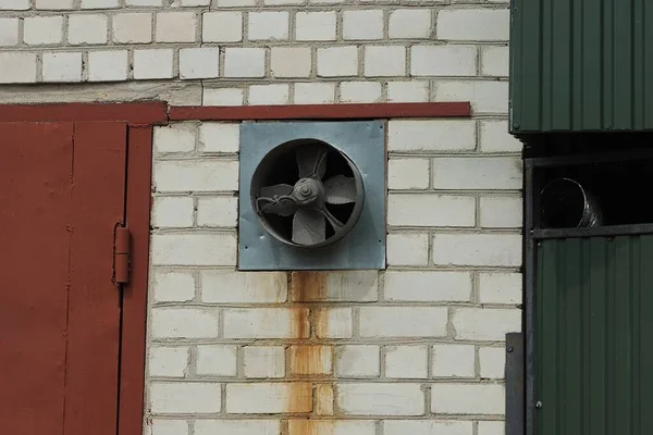
[(151, 246), (152, 264), (236, 264), (236, 237), (232, 234), (155, 234)]

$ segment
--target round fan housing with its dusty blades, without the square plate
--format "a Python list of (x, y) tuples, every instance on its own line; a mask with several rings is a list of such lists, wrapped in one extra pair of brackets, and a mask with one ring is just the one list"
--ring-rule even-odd
[(250, 198), (259, 222), (278, 240), (319, 248), (352, 232), (365, 189), (360, 171), (344, 152), (304, 138), (266, 154), (251, 178)]

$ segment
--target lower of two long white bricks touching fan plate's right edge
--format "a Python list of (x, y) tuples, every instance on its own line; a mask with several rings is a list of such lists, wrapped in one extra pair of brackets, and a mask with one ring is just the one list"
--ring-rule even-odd
[(476, 199), (471, 196), (391, 194), (387, 198), (391, 226), (466, 227), (475, 225), (475, 215)]

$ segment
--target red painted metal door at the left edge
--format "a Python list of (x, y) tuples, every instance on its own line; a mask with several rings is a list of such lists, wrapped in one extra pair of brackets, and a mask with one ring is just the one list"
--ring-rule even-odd
[(115, 435), (126, 125), (0, 124), (0, 434)]

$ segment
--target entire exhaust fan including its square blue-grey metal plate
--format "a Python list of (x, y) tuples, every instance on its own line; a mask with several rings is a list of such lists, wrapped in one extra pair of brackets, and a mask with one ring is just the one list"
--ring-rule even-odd
[(383, 122), (241, 126), (239, 270), (385, 266)]

